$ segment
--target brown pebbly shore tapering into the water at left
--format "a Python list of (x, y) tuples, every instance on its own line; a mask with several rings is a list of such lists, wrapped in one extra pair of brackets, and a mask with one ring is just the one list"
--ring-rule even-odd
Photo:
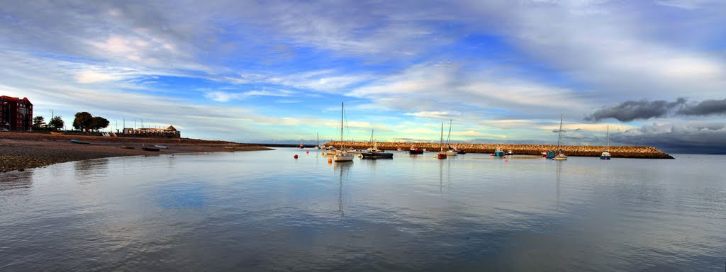
[[(71, 139), (89, 141), (91, 144), (72, 144)], [(142, 145), (149, 147), (155, 144), (165, 144), (169, 148), (160, 149), (158, 152), (141, 149)], [(134, 149), (123, 149), (122, 146), (134, 147)], [(102, 157), (247, 150), (269, 150), (269, 148), (229, 141), (205, 141), (184, 138), (156, 139), (0, 132), (0, 172), (25, 170), (54, 163)]]

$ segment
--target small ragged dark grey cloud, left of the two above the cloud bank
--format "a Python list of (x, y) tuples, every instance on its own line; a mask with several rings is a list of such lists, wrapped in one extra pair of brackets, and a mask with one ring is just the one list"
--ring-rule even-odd
[(600, 121), (607, 118), (614, 118), (621, 122), (629, 122), (635, 119), (664, 118), (668, 112), (685, 104), (685, 98), (678, 98), (675, 102), (665, 100), (640, 100), (626, 101), (613, 107), (603, 107), (600, 110), (587, 115), (586, 121)]

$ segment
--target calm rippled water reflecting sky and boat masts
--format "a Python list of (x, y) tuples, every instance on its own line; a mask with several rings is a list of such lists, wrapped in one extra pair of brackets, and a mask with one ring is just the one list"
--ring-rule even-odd
[(0, 271), (724, 271), (726, 156), (676, 157), (68, 162), (0, 174)]

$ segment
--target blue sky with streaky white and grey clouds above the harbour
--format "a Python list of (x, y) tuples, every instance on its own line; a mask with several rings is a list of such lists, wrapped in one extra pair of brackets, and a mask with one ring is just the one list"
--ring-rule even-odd
[(11, 0), (0, 63), (111, 131), (726, 153), (725, 1)]

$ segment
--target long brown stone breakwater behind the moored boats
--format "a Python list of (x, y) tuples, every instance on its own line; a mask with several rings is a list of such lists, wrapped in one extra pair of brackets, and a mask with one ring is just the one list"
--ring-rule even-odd
[[(329, 141), (325, 145), (340, 147), (354, 147), (356, 149), (367, 149), (370, 147), (369, 142), (361, 141)], [(542, 144), (450, 144), (451, 147), (463, 149), (468, 153), (492, 153), (497, 147), (502, 148), (505, 152), (512, 150), (513, 154), (530, 154), (541, 155), (547, 150), (557, 149), (556, 145)], [(428, 149), (428, 151), (439, 151), (439, 144), (434, 143), (378, 143), (378, 148), (383, 150), (396, 150), (398, 148), (407, 150), (411, 147), (419, 149)], [(444, 147), (446, 148), (446, 147)], [(575, 157), (600, 157), (605, 151), (605, 147), (597, 146), (562, 146), (563, 153), (568, 156)], [(612, 157), (630, 157), (643, 159), (673, 159), (671, 155), (666, 154), (655, 147), (610, 147)]]

